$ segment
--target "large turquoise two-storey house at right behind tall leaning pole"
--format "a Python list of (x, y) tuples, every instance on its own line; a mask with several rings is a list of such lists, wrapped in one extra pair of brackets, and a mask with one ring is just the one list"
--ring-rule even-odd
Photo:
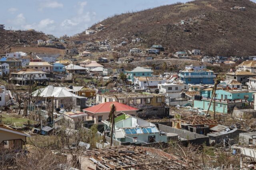
[[(253, 94), (248, 90), (216, 90), (215, 95), (215, 111), (218, 113), (230, 113), (234, 107), (243, 108), (247, 105), (253, 105)], [(212, 97), (212, 88), (207, 88), (200, 91), (200, 96), (194, 100), (195, 108), (207, 110)], [(210, 111), (213, 111), (213, 100), (210, 106)]]

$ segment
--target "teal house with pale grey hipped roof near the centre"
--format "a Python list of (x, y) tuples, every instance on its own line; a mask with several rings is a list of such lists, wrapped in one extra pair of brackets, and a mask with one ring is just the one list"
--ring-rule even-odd
[(134, 82), (134, 77), (152, 77), (153, 72), (148, 68), (136, 67), (133, 70), (125, 70), (124, 74), (128, 81)]

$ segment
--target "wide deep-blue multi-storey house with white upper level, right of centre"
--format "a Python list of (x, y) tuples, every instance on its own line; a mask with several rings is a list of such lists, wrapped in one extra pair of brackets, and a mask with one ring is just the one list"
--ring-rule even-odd
[(180, 80), (184, 84), (214, 84), (212, 70), (206, 69), (206, 66), (186, 66), (184, 70), (179, 73)]

